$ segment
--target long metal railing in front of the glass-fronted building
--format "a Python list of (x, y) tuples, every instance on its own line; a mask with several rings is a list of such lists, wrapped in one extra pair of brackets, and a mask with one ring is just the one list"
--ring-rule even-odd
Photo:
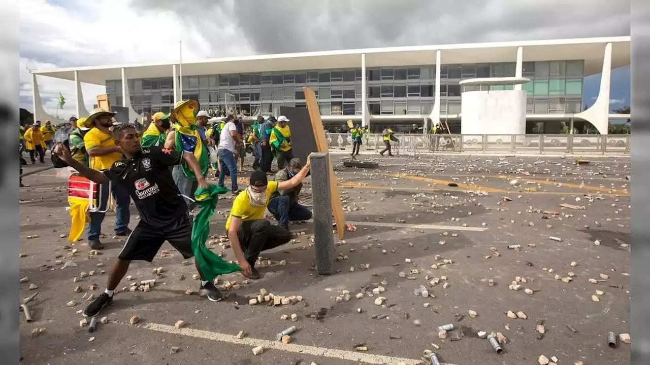
[[(393, 155), (417, 153), (575, 153), (625, 155), (630, 153), (629, 134), (395, 134)], [(328, 133), (331, 151), (352, 152), (352, 134)], [(382, 151), (381, 134), (364, 134), (361, 151)]]

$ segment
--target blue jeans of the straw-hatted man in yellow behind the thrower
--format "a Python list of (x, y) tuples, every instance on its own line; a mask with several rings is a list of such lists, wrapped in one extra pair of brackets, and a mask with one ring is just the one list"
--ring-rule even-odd
[[(99, 210), (104, 210), (109, 203), (109, 184), (102, 184), (101, 197), (99, 201)], [(112, 184), (112, 195), (115, 199), (115, 233), (126, 231), (131, 220), (129, 204), (131, 197), (129, 192), (119, 184)], [(88, 241), (99, 240), (101, 234), (101, 222), (104, 221), (105, 213), (89, 213), (90, 223), (88, 223)]]

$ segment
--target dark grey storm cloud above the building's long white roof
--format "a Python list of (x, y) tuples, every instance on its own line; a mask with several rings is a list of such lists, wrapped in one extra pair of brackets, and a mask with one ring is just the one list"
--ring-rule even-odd
[(175, 12), (207, 40), (234, 25), (255, 53), (630, 34), (629, 0), (195, 0), (189, 11), (185, 4), (133, 1), (141, 11)]

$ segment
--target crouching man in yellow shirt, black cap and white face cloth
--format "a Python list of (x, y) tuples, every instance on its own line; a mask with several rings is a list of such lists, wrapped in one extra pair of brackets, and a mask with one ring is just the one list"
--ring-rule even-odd
[(310, 158), (307, 157), (307, 164), (300, 172), (279, 183), (268, 181), (264, 171), (254, 171), (248, 188), (233, 201), (226, 231), (242, 273), (249, 279), (259, 279), (259, 272), (255, 270), (259, 253), (291, 240), (291, 231), (271, 225), (270, 221), (264, 219), (264, 212), (276, 191), (292, 189), (302, 183), (309, 172)]

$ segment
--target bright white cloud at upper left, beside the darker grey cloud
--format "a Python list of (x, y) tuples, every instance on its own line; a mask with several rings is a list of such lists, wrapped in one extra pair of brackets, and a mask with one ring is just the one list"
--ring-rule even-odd
[[(52, 69), (101, 64), (170, 62), (179, 57), (183, 40), (183, 60), (214, 56), (211, 44), (227, 53), (252, 54), (237, 29), (214, 15), (214, 34), (207, 42), (192, 24), (184, 24), (173, 12), (136, 11), (129, 0), (66, 0), (54, 5), (45, 0), (21, 0), (20, 14), (20, 95), (21, 108), (32, 110), (31, 69)], [(198, 15), (198, 14), (197, 14)], [(218, 19), (221, 19), (218, 20)], [(101, 37), (105, 34), (105, 37)], [(217, 54), (218, 56), (218, 54)], [(38, 76), (38, 87), (47, 113), (57, 110), (59, 92), (66, 105), (59, 117), (75, 114), (73, 81)], [(104, 86), (82, 84), (86, 109), (90, 110)]]

